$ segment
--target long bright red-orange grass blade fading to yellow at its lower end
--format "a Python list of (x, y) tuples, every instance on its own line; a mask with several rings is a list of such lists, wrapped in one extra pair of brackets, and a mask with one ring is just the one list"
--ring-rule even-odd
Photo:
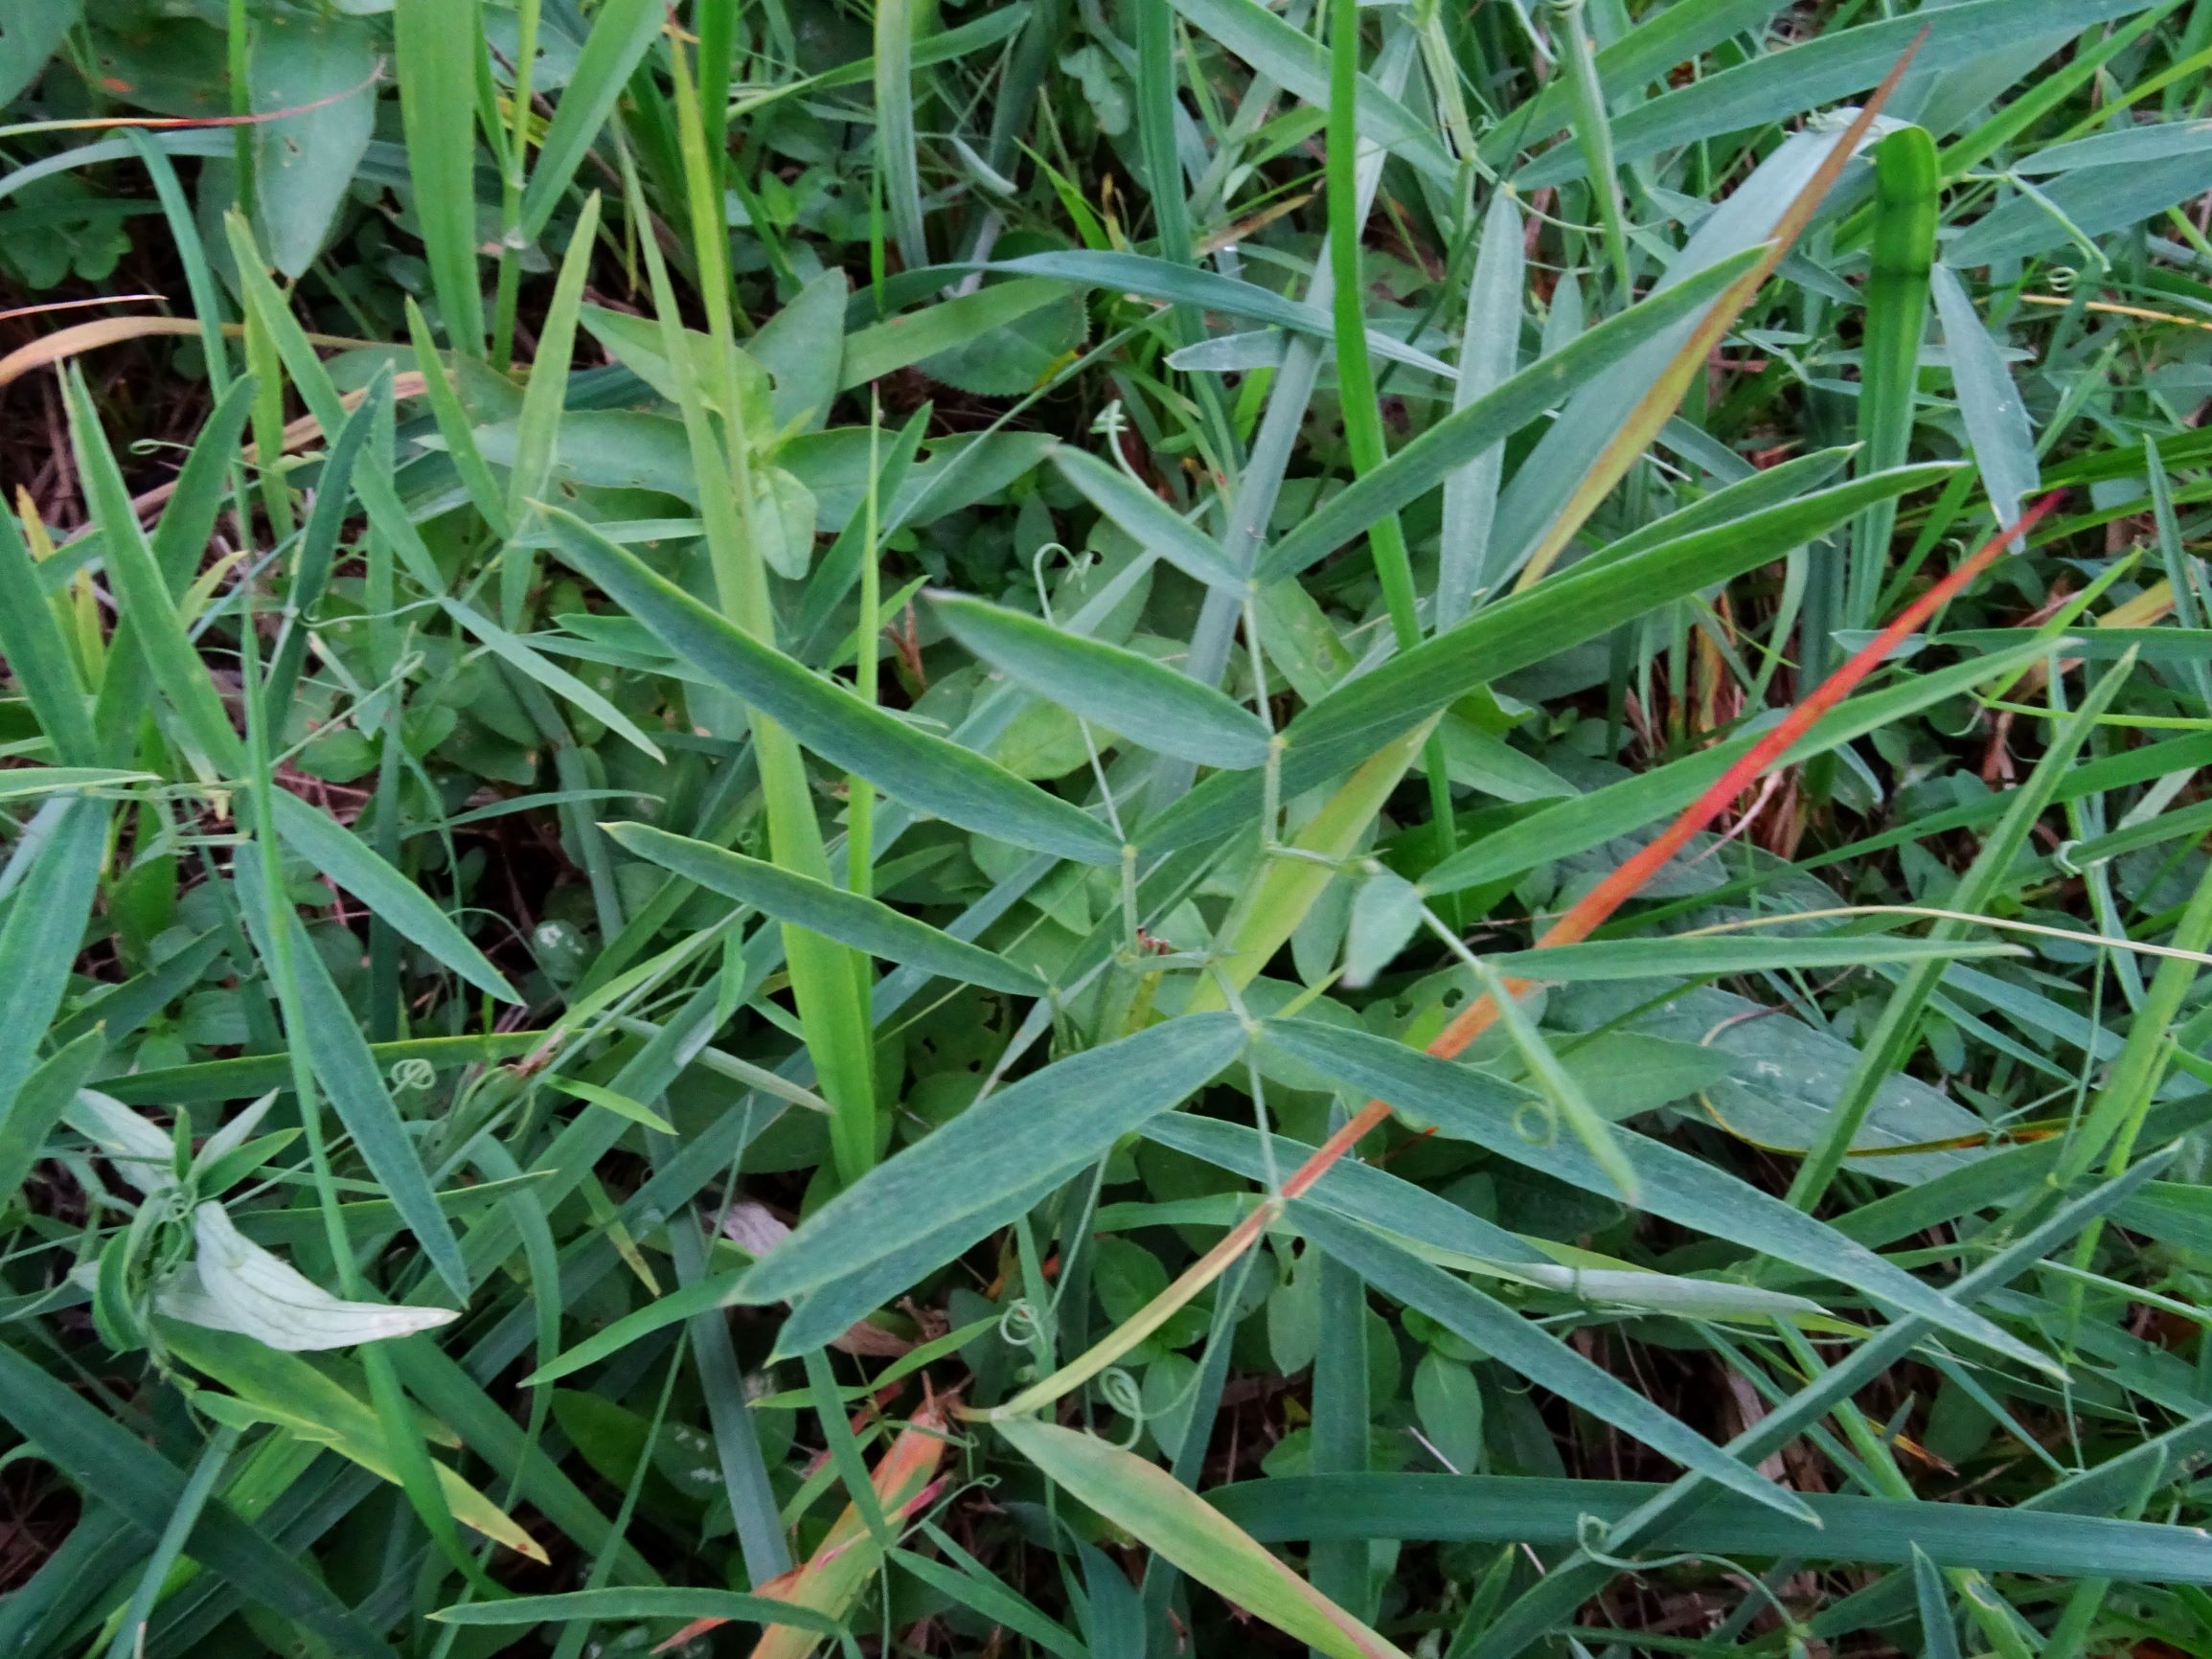
[[(1986, 571), (2000, 553), (2004, 553), (2006, 544), (2015, 535), (2033, 531), (2035, 524), (2048, 518), (2064, 498), (2064, 491), (2044, 495), (2044, 500), (2028, 509), (2017, 524), (2000, 529), (1966, 560), (1962, 560), (1951, 575), (1905, 606), (1905, 611), (1900, 611), (1887, 628), (1860, 646), (1851, 659), (1843, 664), (1843, 668), (1820, 681), (1805, 697), (1805, 701), (1792, 708), (1790, 714), (1774, 726), (1774, 730), (1745, 750), (1743, 757), (1712, 783), (1712, 787), (1708, 787), (1681, 812), (1681, 816), (1674, 818), (1674, 823), (1666, 827), (1666, 832), (1661, 832), (1650, 845), (1641, 847), (1619, 869), (1597, 883), (1597, 887), (1577, 900), (1564, 916), (1559, 916), (1557, 922), (1544, 929), (1537, 938), (1537, 949), (1553, 945), (1579, 945), (1595, 933), (1621, 905), (1635, 898), (1635, 894), (1641, 891), (1644, 885), (1657, 876), (1659, 869), (1663, 869), (1666, 863), (1681, 852), (1694, 834), (1710, 827), (1712, 821), (1728, 810), (1730, 801), (1739, 799), (1745, 787), (1750, 787), (1770, 765), (1787, 754), (1790, 748), (1805, 737), (1814, 721), (1849, 697), (1867, 675), (1882, 666), (1891, 650), (1896, 650), (1909, 635), (1918, 633), (1929, 617), (1971, 586), (1973, 580), (1982, 575), (1982, 571)], [(1513, 998), (1526, 995), (1535, 989), (1535, 980), (1500, 980), (1500, 989)], [(1478, 995), (1436, 1035), (1429, 1044), (1429, 1053), (1438, 1060), (1455, 1060), (1475, 1037), (1498, 1022), (1498, 1004), (1489, 993)], [(1283, 1190), (1276, 1199), (1256, 1206), (1252, 1214), (1221, 1234), (1221, 1241), (1214, 1243), (1212, 1250), (1190, 1263), (1190, 1267), (1186, 1267), (1181, 1276), (1177, 1276), (1175, 1283), (1159, 1292), (1159, 1296), (1155, 1296), (1146, 1307), (1121, 1321), (1121, 1325), (1115, 1327), (1102, 1343), (1093, 1345), (1088, 1352), (1040, 1383), (1022, 1389), (1011, 1400), (1004, 1400), (989, 1411), (962, 1416), (989, 1418), (1004, 1425), (1006, 1420), (1037, 1411), (1071, 1389), (1088, 1383), (1159, 1329), (1179, 1307), (1186, 1307), (1223, 1272), (1228, 1272), (1230, 1263), (1259, 1243), (1267, 1228), (1274, 1225), (1283, 1212), (1283, 1201), (1298, 1199), (1310, 1192), (1314, 1183), (1329, 1172), (1329, 1166), (1358, 1146), (1365, 1135), (1380, 1128), (1385, 1119), (1389, 1119), (1389, 1102), (1367, 1102), (1349, 1121), (1329, 1135), (1329, 1139), (1314, 1148), (1314, 1155), (1305, 1159), (1305, 1164), (1285, 1177)]]

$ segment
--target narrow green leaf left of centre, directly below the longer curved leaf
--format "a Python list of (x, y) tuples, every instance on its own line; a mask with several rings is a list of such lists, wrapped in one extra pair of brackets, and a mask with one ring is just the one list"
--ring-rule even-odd
[(887, 962), (942, 973), (947, 980), (964, 980), (1009, 995), (1044, 995), (1044, 980), (1029, 969), (1015, 967), (982, 945), (969, 945), (929, 922), (902, 916), (883, 900), (847, 894), (825, 880), (748, 858), (741, 852), (712, 847), (706, 841), (675, 836), (646, 823), (602, 827), (617, 845), (639, 858), (650, 858), (708, 891), (752, 905), (779, 922), (805, 927)]

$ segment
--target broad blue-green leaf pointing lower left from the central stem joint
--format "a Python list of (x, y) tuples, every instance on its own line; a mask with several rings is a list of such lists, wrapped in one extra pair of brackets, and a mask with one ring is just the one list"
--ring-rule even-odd
[(1170, 1110), (1230, 1064), (1243, 1042), (1243, 1024), (1232, 1015), (1188, 1015), (984, 1095), (807, 1217), (745, 1274), (741, 1301), (799, 1296), (962, 1217), (995, 1212), (1002, 1194), (1075, 1170)]

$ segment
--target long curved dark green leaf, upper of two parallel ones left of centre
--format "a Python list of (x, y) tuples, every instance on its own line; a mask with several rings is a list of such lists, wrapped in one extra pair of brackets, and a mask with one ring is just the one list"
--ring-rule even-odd
[(1088, 865), (1121, 860), (1119, 836), (1082, 807), (807, 672), (573, 513), (560, 507), (540, 507), (540, 513), (551, 544), (568, 564), (699, 672), (757, 706), (832, 765), (858, 772), (894, 801), (962, 830)]

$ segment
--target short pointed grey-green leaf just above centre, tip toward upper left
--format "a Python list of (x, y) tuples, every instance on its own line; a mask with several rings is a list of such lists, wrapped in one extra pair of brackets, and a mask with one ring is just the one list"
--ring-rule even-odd
[(933, 591), (929, 604), (947, 633), (993, 668), (1133, 743), (1230, 770), (1267, 759), (1267, 723), (1190, 675), (958, 593)]

